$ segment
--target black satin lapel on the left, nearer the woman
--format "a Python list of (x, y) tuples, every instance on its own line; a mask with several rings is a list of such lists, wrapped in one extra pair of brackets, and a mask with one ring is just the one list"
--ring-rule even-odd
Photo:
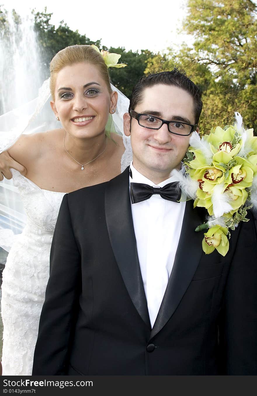
[(110, 243), (129, 296), (151, 328), (147, 299), (137, 255), (129, 195), (129, 167), (110, 180), (105, 190), (105, 217)]

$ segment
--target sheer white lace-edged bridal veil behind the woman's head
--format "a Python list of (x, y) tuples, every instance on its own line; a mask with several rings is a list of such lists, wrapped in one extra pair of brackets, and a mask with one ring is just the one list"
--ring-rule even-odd
[[(113, 129), (114, 126), (117, 133), (124, 135), (123, 114), (128, 111), (129, 99), (117, 88), (112, 85), (111, 87), (118, 92), (118, 104), (116, 112), (110, 115), (112, 125), (109, 128)], [(55, 120), (49, 102), (48, 79), (39, 89), (36, 99), (0, 116), (0, 153), (8, 150), (22, 133), (29, 134), (60, 128), (60, 122)], [(0, 246), (3, 249), (10, 250), (15, 235), (22, 232), (25, 223), (26, 214), (19, 192), (13, 185), (12, 179), (4, 178), (0, 182)]]

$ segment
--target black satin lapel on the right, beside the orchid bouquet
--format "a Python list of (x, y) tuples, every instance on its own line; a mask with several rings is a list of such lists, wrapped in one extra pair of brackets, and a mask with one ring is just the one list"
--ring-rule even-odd
[(202, 256), (202, 232), (195, 232), (195, 228), (203, 223), (198, 208), (193, 209), (193, 201), (186, 203), (185, 214), (175, 255), (173, 268), (168, 285), (152, 328), (151, 338), (154, 337), (175, 312)]

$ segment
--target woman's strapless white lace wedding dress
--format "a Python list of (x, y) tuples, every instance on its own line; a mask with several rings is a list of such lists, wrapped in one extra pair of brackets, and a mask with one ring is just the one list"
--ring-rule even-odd
[[(130, 138), (123, 136), (121, 171), (132, 159)], [(49, 253), (65, 193), (43, 190), (12, 169), (27, 214), (27, 224), (7, 257), (2, 282), (3, 375), (31, 375), (40, 312), (49, 278)], [(65, 242), (65, 241), (64, 241)]]

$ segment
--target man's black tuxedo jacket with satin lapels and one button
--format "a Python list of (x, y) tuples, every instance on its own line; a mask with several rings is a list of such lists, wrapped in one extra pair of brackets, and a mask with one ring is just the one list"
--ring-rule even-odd
[(32, 375), (256, 375), (253, 219), (231, 233), (225, 257), (205, 255), (194, 230), (206, 211), (187, 202), (151, 328), (128, 183), (127, 168), (64, 196)]

